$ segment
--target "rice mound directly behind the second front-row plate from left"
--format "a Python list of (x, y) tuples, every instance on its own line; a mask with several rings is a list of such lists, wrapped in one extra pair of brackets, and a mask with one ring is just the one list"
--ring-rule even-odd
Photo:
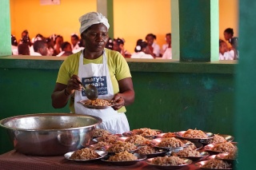
[(111, 144), (109, 148), (106, 149), (107, 152), (123, 152), (123, 151), (134, 151), (137, 149), (137, 146), (134, 144), (131, 144), (129, 142), (122, 142), (122, 141), (117, 141), (114, 144)]

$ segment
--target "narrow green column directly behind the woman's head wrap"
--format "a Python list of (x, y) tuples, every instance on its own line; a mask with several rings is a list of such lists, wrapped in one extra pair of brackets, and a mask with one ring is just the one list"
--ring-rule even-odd
[(113, 0), (97, 0), (97, 12), (102, 13), (110, 23), (109, 36), (114, 38)]

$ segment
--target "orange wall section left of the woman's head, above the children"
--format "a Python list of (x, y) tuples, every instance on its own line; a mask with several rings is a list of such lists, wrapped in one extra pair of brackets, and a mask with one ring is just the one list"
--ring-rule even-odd
[(40, 6), (39, 0), (10, 0), (11, 33), (18, 39), (23, 30), (29, 31), (30, 38), (39, 33), (45, 37), (61, 34), (70, 42), (70, 34), (79, 35), (78, 18), (96, 10), (96, 0), (61, 0), (58, 6)]

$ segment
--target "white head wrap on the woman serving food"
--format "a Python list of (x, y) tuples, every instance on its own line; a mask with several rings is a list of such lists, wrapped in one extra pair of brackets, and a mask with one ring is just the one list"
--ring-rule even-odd
[(101, 13), (97, 13), (97, 12), (90, 12), (82, 15), (79, 18), (79, 22), (81, 23), (80, 34), (82, 34), (82, 32), (84, 32), (94, 24), (102, 23), (106, 26), (107, 30), (109, 30), (110, 28), (110, 24), (107, 21), (107, 18), (103, 16)]

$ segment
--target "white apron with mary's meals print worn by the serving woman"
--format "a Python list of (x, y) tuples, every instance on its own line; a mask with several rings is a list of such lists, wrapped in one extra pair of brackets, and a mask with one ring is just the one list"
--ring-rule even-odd
[[(98, 89), (98, 98), (111, 100), (114, 97), (114, 90), (110, 78), (110, 72), (106, 61), (106, 53), (103, 52), (102, 64), (86, 64), (83, 65), (83, 51), (79, 58), (78, 77), (82, 81), (82, 85), (93, 84)], [(87, 109), (78, 101), (88, 100), (84, 91), (75, 90), (74, 110), (78, 114), (89, 114), (102, 118), (102, 124), (97, 128), (109, 129), (115, 133), (130, 131), (129, 123), (125, 113), (118, 113), (113, 108), (108, 109)]]

